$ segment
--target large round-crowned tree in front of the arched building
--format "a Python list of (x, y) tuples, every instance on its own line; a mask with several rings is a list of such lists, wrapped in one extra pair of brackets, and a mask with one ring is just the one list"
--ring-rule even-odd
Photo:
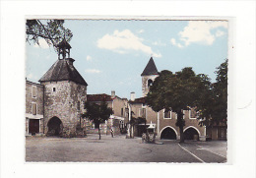
[(196, 76), (192, 68), (184, 68), (175, 74), (161, 71), (147, 95), (147, 103), (156, 112), (165, 109), (177, 113), (176, 126), (180, 131), (180, 143), (184, 142), (183, 110), (197, 106), (202, 97), (201, 89), (204, 89), (202, 76)]

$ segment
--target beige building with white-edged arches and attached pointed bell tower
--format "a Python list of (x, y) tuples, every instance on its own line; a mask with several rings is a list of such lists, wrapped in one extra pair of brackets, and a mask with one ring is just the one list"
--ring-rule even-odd
[[(134, 117), (142, 117), (147, 120), (147, 123), (153, 123), (156, 127), (157, 136), (160, 139), (170, 139), (179, 140), (179, 127), (175, 125), (176, 123), (176, 113), (172, 111), (160, 110), (160, 112), (155, 112), (151, 107), (147, 105), (146, 95), (150, 90), (153, 82), (157, 77), (159, 77), (159, 72), (154, 59), (151, 57), (147, 66), (145, 67), (142, 75), (142, 97), (135, 98), (134, 93), (131, 93), (131, 99), (129, 100), (129, 105), (131, 112), (134, 113)], [(196, 118), (195, 110), (183, 111), (183, 119), (185, 120), (184, 126), (184, 136), (186, 140), (200, 140), (206, 141), (206, 128), (200, 127), (198, 125), (199, 120)], [(146, 126), (147, 127), (147, 124)], [(143, 125), (138, 126), (134, 134), (138, 137), (141, 136)]]

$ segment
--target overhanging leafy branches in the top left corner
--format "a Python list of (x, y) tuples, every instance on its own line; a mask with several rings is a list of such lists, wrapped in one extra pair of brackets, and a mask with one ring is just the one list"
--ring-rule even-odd
[[(43, 22), (43, 23), (42, 23)], [(43, 38), (49, 46), (56, 45), (65, 37), (70, 41), (73, 33), (64, 28), (64, 20), (27, 20), (26, 22), (26, 41), (39, 44), (39, 38)]]

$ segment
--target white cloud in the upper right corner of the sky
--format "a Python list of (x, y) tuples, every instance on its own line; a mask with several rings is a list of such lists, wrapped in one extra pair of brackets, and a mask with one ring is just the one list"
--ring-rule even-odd
[(216, 37), (224, 35), (224, 31), (221, 30), (218, 30), (216, 34), (212, 33), (211, 30), (218, 28), (227, 29), (227, 22), (190, 21), (188, 26), (178, 33), (180, 43), (176, 42), (174, 38), (171, 38), (170, 42), (178, 47), (188, 46), (191, 43), (212, 45), (216, 40)]

